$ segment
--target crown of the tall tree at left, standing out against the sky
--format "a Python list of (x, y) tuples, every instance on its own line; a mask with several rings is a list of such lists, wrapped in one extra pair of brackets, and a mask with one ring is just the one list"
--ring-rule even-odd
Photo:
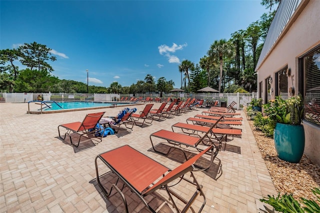
[(51, 60), (55, 61), (55, 56), (50, 56), (50, 48), (46, 47), (44, 44), (33, 43), (24, 43), (24, 45), (18, 47), (20, 52), (19, 56), (21, 57), (21, 64), (28, 67), (30, 70), (37, 68), (38, 71), (53, 71), (53, 68), (46, 61)]

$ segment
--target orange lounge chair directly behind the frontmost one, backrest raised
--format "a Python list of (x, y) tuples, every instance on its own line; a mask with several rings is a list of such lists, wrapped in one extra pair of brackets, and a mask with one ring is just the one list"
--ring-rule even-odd
[[(175, 148), (174, 146), (176, 146), (176, 145), (178, 147), (180, 147), (181, 145), (184, 145), (186, 147), (193, 147), (197, 151), (203, 150), (199, 147), (199, 145), (204, 145), (204, 146), (214, 145), (214, 146), (216, 146), (208, 135), (211, 134), (211, 130), (216, 127), (216, 125), (217, 125), (217, 123), (219, 123), (219, 121), (220, 121), (220, 119), (217, 120), (214, 125), (209, 127), (207, 132), (205, 134), (203, 134), (202, 137), (198, 137), (198, 136), (194, 137), (194, 136), (186, 135), (183, 133), (176, 133), (176, 132), (171, 132), (171, 131), (163, 130), (163, 129), (159, 130), (157, 132), (154, 132), (150, 135), (150, 142), (151, 142), (152, 148), (153, 148), (154, 152), (166, 156), (169, 154), (169, 152), (171, 151), (172, 148)], [(170, 148), (168, 149), (168, 151), (166, 153), (161, 152), (161, 151), (155, 149), (155, 147), (157, 147), (161, 143), (154, 146), (152, 138), (164, 139), (164, 140), (166, 140), (167, 143), (172, 144), (174, 146), (170, 146)], [(218, 146), (220, 148), (222, 146), (221, 139), (219, 139), (219, 138), (215, 138), (215, 139), (217, 140)], [(216, 147), (218, 147), (218, 146), (216, 146)], [(183, 150), (181, 150), (181, 151), (183, 152), (184, 157), (186, 158), (184, 151)]]

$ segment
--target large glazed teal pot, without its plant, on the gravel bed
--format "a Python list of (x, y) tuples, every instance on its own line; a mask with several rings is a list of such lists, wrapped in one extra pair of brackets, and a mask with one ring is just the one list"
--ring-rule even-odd
[(291, 163), (299, 163), (304, 151), (304, 129), (302, 125), (275, 125), (274, 146), (278, 157)]

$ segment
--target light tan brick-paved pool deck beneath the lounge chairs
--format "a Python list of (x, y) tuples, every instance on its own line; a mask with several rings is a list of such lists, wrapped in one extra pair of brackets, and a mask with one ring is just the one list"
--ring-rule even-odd
[[(154, 103), (153, 108), (159, 105)], [(144, 105), (134, 107), (141, 111)], [(180, 163), (174, 158), (150, 150), (149, 135), (160, 129), (171, 131), (172, 124), (185, 122), (205, 108), (153, 121), (142, 128), (134, 126), (132, 131), (121, 126), (117, 134), (103, 138), (102, 142), (85, 141), (79, 148), (70, 146), (68, 139), (61, 141), (57, 137), (60, 124), (82, 121), (92, 112), (105, 111), (105, 116), (114, 116), (120, 109), (32, 115), (26, 114), (27, 103), (0, 103), (1, 213), (122, 212), (117, 195), (107, 200), (96, 184), (96, 155), (128, 144), (168, 168), (175, 168)], [(208, 172), (194, 173), (204, 186), (203, 213), (263, 213), (264, 204), (259, 199), (277, 194), (244, 113), (238, 112), (243, 117), (242, 137), (227, 142)], [(187, 187), (177, 189), (181, 195), (191, 193)], [(151, 202), (170, 203), (163, 190), (157, 194), (160, 196), (155, 195)], [(198, 203), (194, 205), (197, 207)], [(143, 204), (131, 195), (129, 209), (140, 212), (141, 208)], [(162, 210), (167, 212), (165, 206)]]

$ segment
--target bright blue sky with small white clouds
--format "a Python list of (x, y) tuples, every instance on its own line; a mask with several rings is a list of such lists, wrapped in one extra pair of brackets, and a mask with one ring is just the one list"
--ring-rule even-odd
[[(130, 86), (147, 74), (180, 87), (178, 65), (194, 64), (267, 12), (260, 0), (1, 0), (0, 49), (33, 41), (52, 49), (59, 79)], [(21, 66), (20, 66), (21, 67)]]

